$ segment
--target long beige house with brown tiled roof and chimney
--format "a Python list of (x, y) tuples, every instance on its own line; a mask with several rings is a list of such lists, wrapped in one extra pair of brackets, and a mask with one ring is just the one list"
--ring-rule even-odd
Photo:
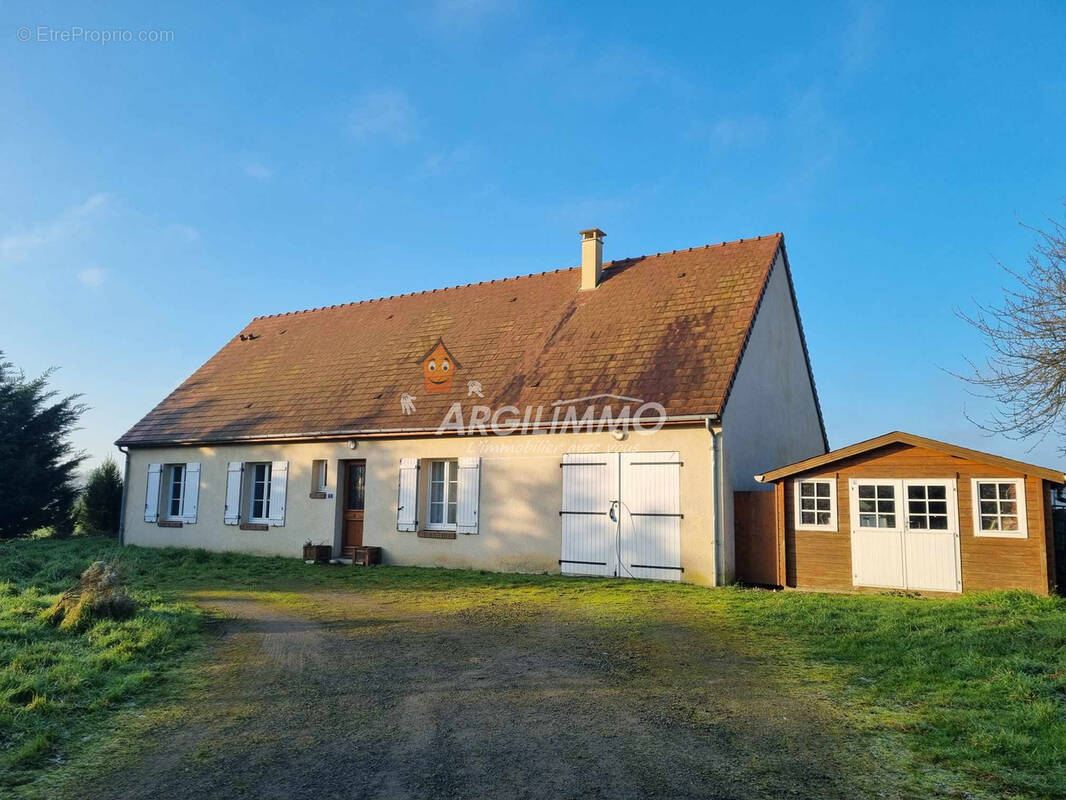
[(123, 541), (733, 576), (732, 498), (827, 449), (780, 235), (258, 317), (118, 439)]

